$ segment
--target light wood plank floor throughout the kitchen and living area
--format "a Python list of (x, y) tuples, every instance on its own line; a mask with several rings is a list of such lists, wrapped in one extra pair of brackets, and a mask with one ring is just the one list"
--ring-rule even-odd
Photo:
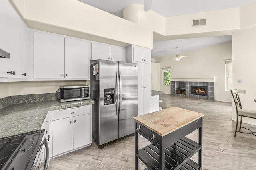
[[(256, 137), (237, 133), (231, 120), (231, 103), (194, 98), (160, 95), (163, 109), (176, 106), (204, 113), (203, 118), (203, 169), (204, 170), (256, 170)], [(244, 127), (256, 131), (253, 125)], [(188, 137), (198, 141), (198, 131)], [(140, 148), (149, 142), (140, 136)], [(197, 162), (198, 155), (192, 157)], [(140, 169), (146, 168), (140, 162)], [(53, 158), (50, 170), (133, 170), (134, 136), (98, 149), (95, 142), (90, 147)]]

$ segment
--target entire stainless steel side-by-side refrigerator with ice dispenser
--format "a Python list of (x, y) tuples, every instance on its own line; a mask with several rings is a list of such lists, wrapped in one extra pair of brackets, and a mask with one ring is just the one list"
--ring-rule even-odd
[(99, 148), (134, 133), (138, 115), (137, 64), (97, 61), (90, 66), (92, 136)]

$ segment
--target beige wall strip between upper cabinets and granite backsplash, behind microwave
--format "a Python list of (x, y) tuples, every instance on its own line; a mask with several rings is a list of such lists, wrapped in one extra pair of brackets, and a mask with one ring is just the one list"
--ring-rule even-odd
[(90, 85), (90, 81), (1, 82), (0, 98), (23, 94), (55, 93), (60, 86)]

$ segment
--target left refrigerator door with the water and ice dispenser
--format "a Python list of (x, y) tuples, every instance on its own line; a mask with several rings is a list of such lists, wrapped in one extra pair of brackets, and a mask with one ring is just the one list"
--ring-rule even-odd
[(99, 75), (99, 145), (103, 145), (118, 139), (118, 62), (99, 61)]

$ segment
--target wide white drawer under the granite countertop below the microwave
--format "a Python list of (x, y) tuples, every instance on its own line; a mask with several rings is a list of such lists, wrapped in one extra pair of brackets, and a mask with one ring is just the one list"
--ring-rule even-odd
[(64, 119), (78, 115), (88, 114), (91, 111), (90, 106), (72, 107), (70, 109), (52, 111), (52, 120)]

